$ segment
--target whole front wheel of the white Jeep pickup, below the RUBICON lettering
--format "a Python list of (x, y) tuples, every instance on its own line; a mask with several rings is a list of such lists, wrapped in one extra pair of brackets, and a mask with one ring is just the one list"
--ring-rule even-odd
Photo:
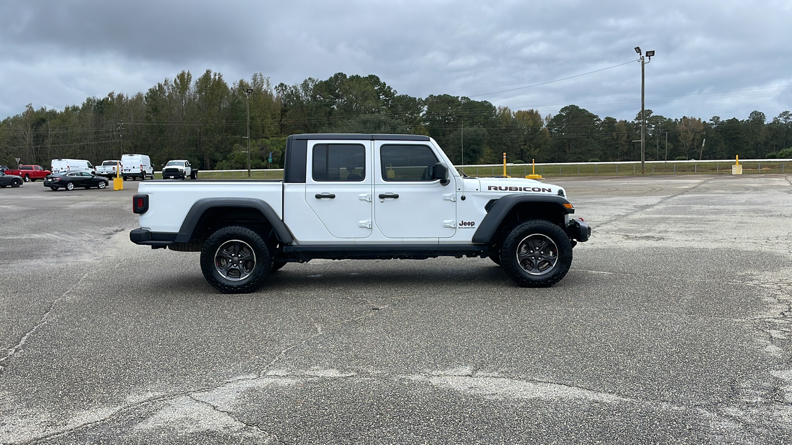
[(572, 265), (572, 243), (561, 227), (531, 219), (508, 234), (499, 255), (508, 276), (522, 287), (550, 287)]

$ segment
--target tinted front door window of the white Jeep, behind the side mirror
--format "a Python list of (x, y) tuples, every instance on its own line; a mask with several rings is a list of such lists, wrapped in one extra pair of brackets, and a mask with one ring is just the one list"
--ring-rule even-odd
[(385, 181), (432, 181), (432, 167), (438, 162), (425, 145), (383, 145), (379, 158)]

